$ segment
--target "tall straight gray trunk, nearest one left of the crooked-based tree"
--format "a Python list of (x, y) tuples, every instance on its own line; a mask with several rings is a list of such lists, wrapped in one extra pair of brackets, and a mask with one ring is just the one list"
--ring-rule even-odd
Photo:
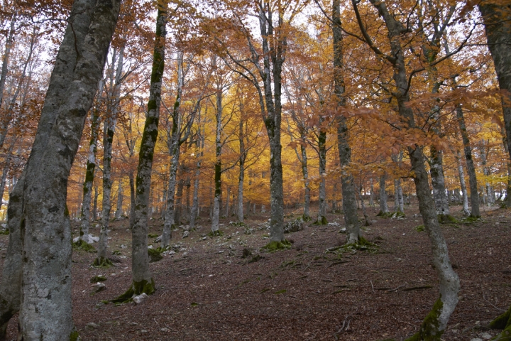
[[(332, 1), (332, 26), (334, 43), (334, 94), (337, 97), (339, 108), (344, 107), (346, 99), (344, 97), (344, 52), (343, 37), (341, 30), (341, 12), (339, 0)], [(339, 148), (339, 161), (341, 167), (347, 167), (351, 163), (351, 146), (348, 143), (348, 126), (346, 117), (341, 113), (337, 116), (337, 146)], [(357, 200), (355, 195), (355, 184), (353, 175), (344, 171), (341, 175), (344, 221), (346, 222), (346, 242), (348, 244), (358, 243), (361, 238), (360, 227), (358, 226)]]

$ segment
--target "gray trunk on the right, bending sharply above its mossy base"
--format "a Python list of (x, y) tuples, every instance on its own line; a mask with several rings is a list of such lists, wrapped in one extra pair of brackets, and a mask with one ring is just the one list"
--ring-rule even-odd
[[(385, 55), (385, 59), (393, 67), (394, 74), (392, 77), (396, 89), (394, 97), (397, 101), (399, 115), (407, 123), (407, 126), (413, 129), (416, 127), (416, 124), (414, 121), (414, 112), (412, 108), (407, 105), (407, 102), (410, 101), (410, 92), (408, 91), (410, 90), (408, 84), (409, 75), (407, 75), (405, 57), (402, 53), (403, 49), (401, 45), (402, 35), (406, 32), (406, 28), (390, 13), (385, 1), (370, 0), (370, 2), (378, 10), (380, 16), (383, 17), (383, 21), (385, 21), (385, 25), (388, 28), (391, 55)], [(361, 30), (365, 33), (360, 13), (358, 13), (356, 0), (352, 0), (352, 4), (356, 11), (359, 26), (361, 26)], [(366, 36), (366, 40), (368, 39), (367, 37), (368, 36)], [(371, 43), (369, 43), (369, 45), (370, 44)], [(408, 155), (410, 156), (410, 163), (412, 164), (412, 171), (414, 172), (414, 183), (417, 191), (417, 198), (419, 199), (419, 211), (422, 215), (424, 228), (428, 234), (429, 241), (432, 244), (432, 263), (439, 277), (440, 291), (440, 297), (434, 304), (432, 313), (424, 319), (419, 331), (414, 337), (419, 340), (439, 340), (444, 330), (446, 330), (449, 318), (458, 303), (460, 283), (458, 275), (452, 269), (447, 244), (436, 216), (434, 200), (429, 190), (428, 174), (424, 166), (422, 148), (419, 146), (415, 146), (415, 148), (408, 147)]]

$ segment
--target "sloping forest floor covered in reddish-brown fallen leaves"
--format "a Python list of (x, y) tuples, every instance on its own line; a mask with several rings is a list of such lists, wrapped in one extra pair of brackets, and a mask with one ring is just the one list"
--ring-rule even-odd
[[(451, 210), (460, 217), (459, 207)], [(287, 234), (292, 247), (273, 253), (259, 250), (268, 243), (268, 213), (249, 215), (249, 228), (229, 225), (234, 217), (224, 219), (224, 236), (214, 238), (202, 237), (209, 232), (202, 218), (202, 228), (189, 237), (172, 233), (180, 251), (150, 264), (157, 291), (138, 305), (101, 303), (131, 283), (128, 220), (112, 222), (114, 266), (93, 268), (95, 254), (73, 251), (73, 320), (82, 340), (404, 340), (439, 295), (429, 239), (416, 229), (422, 224), (417, 207), (405, 212), (397, 220), (369, 209), (373, 224), (363, 235), (378, 242), (378, 249), (342, 254), (325, 252), (344, 244), (342, 215), (328, 215), (340, 226), (307, 225)], [(162, 225), (151, 222), (149, 233), (160, 235)], [(496, 335), (480, 325), (511, 305), (511, 211), (487, 209), (480, 221), (442, 228), (461, 280), (460, 301), (442, 339)], [(8, 237), (0, 235), (0, 266)], [(150, 244), (158, 247), (154, 239)], [(260, 260), (248, 263), (243, 249)], [(106, 290), (93, 294), (90, 280), (98, 275), (106, 276)], [(16, 323), (9, 323), (7, 340), (16, 340)]]

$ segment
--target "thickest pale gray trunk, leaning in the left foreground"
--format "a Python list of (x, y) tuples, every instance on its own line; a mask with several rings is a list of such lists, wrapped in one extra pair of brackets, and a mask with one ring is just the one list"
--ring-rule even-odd
[[(73, 4), (31, 156), (11, 194), (0, 325), (20, 305), (21, 288), (18, 335), (23, 340), (70, 340), (74, 334), (67, 178), (118, 13), (119, 1)], [(27, 262), (21, 262), (21, 252)]]

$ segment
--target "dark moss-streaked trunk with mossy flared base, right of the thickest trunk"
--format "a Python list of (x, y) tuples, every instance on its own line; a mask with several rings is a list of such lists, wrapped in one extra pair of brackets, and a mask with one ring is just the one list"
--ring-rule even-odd
[(155, 48), (153, 52), (153, 68), (151, 70), (148, 112), (145, 117), (141, 147), (138, 156), (136, 175), (135, 210), (131, 226), (131, 271), (133, 283), (119, 300), (129, 300), (141, 293), (152, 294), (155, 283), (149, 269), (148, 256), (148, 207), (150, 195), (150, 179), (153, 169), (153, 156), (158, 138), (158, 121), (160, 119), (160, 100), (165, 68), (165, 26), (167, 23), (166, 3), (158, 3), (156, 16)]

